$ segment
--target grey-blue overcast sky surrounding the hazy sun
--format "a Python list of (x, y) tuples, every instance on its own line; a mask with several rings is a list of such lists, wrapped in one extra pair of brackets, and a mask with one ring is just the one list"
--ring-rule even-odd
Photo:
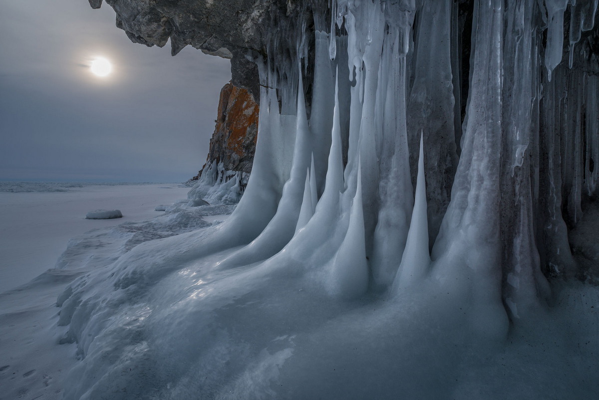
[[(205, 161), (229, 61), (134, 44), (107, 4), (0, 0), (0, 179), (184, 181)], [(113, 72), (89, 68), (105, 57)]]

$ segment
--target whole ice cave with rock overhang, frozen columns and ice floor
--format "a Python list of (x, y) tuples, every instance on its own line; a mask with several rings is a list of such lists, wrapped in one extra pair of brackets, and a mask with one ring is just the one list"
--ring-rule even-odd
[(224, 223), (63, 255), (66, 399), (598, 398), (598, 0), (106, 2), (258, 143)]

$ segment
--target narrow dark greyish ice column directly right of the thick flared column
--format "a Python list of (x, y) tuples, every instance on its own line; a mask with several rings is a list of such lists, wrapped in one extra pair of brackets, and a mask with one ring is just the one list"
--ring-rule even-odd
[(534, 228), (534, 186), (531, 174), (537, 162), (540, 69), (537, 49), (540, 32), (534, 29), (536, 4), (507, 4), (503, 43), (504, 77), (502, 99), (501, 243), (503, 247), (503, 298), (513, 318), (534, 312), (539, 299), (549, 296), (549, 286), (540, 271)]

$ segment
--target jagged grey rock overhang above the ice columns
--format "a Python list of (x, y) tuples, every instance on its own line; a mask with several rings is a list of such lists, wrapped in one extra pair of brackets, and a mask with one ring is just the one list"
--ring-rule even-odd
[[(204, 53), (231, 59), (232, 81), (259, 97), (258, 69), (248, 60), (267, 53), (271, 20), (297, 17), (294, 1), (277, 0), (106, 0), (116, 25), (129, 39), (165, 46), (171, 53), (191, 45)], [(102, 0), (89, 0), (100, 8)]]

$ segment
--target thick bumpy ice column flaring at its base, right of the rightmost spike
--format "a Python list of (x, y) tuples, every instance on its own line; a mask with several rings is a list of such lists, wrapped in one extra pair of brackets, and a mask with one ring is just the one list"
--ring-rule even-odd
[(503, 2), (477, 2), (474, 14), (475, 50), (462, 153), (432, 260), (439, 279), (474, 299), (472, 328), (501, 337), (507, 330), (499, 217)]

